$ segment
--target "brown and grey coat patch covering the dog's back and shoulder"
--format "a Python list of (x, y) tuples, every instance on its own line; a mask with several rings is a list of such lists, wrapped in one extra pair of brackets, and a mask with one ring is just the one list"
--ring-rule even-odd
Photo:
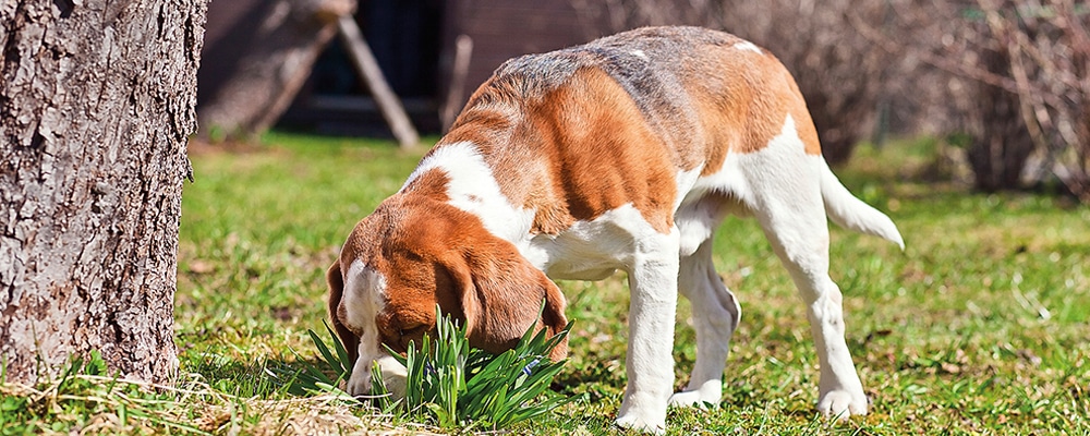
[[(766, 147), (787, 116), (804, 153), (819, 155), (806, 104), (775, 57), (722, 32), (649, 27), (506, 62), (438, 147), (474, 144), (504, 194), (538, 210), (534, 232), (626, 203), (665, 231), (695, 178)], [(562, 170), (535, 173), (543, 168)]]

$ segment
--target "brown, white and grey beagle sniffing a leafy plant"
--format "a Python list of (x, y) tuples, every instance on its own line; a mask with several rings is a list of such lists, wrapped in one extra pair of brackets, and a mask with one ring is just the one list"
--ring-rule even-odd
[[(867, 413), (826, 217), (904, 249), (901, 237), (829, 170), (784, 65), (697, 27), (640, 28), (496, 70), (328, 270), (329, 312), (355, 362), (347, 390), (370, 392), (373, 362), (388, 383), (403, 379), (383, 346), (420, 343), (436, 304), (464, 320), (472, 346), (499, 352), (531, 325), (567, 324), (552, 280), (620, 269), (631, 304), (617, 424), (664, 432), (668, 405), (720, 400), (740, 315), (712, 263), (728, 214), (755, 217), (807, 305), (818, 410)], [(675, 393), (679, 291), (692, 302), (697, 362)], [(565, 343), (553, 358), (566, 353)]]

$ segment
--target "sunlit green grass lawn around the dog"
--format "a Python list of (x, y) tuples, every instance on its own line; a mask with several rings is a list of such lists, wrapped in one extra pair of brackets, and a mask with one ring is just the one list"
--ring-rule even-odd
[[(177, 391), (152, 398), (170, 404), (145, 411), (161, 410), (159, 421), (107, 428), (183, 432), (160, 423), (173, 420), (213, 434), (438, 432), (336, 396), (292, 393), (291, 380), (270, 371), (305, 366), (291, 350), (317, 360), (307, 329), (323, 328), (325, 268), (422, 152), (284, 133), (265, 142), (192, 156), (196, 182), (184, 192), (175, 304), (184, 375)], [(930, 147), (862, 147), (836, 171), (888, 211), (907, 243), (901, 253), (833, 230), (832, 276), (845, 294), (848, 344), (871, 413), (846, 424), (815, 416), (816, 356), (803, 306), (755, 223), (728, 219), (715, 262), (742, 320), (724, 400), (710, 411), (671, 410), (669, 434), (1090, 434), (1090, 207), (918, 182)], [(574, 401), (513, 432), (620, 434), (613, 420), (625, 386), (623, 277), (560, 284), (576, 324), (554, 388)], [(679, 387), (695, 356), (688, 313), (682, 301)], [(27, 396), (2, 393), (2, 401)], [(76, 397), (92, 397), (84, 393)], [(96, 416), (117, 420), (118, 407), (96, 404), (14, 422), (63, 433)]]

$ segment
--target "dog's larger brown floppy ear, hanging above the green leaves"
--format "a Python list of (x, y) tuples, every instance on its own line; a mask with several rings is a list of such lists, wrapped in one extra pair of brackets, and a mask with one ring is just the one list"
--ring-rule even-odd
[[(459, 288), (470, 344), (498, 353), (513, 348), (531, 325), (549, 335), (562, 330), (568, 324), (567, 302), (556, 283), (506, 241), (488, 245), (463, 253), (447, 266)], [(567, 355), (566, 338), (549, 358), (558, 361)]]

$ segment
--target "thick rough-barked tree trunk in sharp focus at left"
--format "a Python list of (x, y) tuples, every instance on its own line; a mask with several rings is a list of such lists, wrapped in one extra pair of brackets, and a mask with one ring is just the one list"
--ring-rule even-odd
[(0, 5), (0, 361), (170, 382), (205, 0)]

